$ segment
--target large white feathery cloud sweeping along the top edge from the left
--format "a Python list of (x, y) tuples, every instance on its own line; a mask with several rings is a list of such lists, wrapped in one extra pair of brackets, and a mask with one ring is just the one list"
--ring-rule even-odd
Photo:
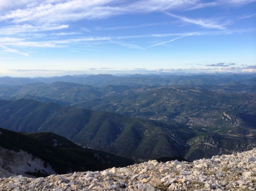
[[(2, 0), (6, 2), (7, 0)], [(11, 11), (3, 12), (0, 20), (10, 20), (15, 23), (25, 21), (36, 23), (57, 23), (79, 19), (101, 19), (123, 14), (150, 13), (167, 10), (182, 10), (194, 6), (200, 0), (55, 0), (32, 1), (22, 0), (14, 9), (10, 3), (5, 3)], [(26, 3), (30, 6), (24, 6)], [(1, 5), (0, 5), (1, 7)]]

